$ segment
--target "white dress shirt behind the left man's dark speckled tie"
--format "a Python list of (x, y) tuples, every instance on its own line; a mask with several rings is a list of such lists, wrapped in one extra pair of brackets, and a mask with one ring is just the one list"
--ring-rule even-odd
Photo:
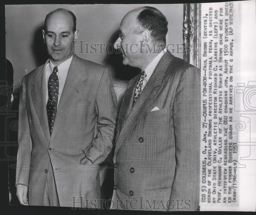
[[(66, 78), (67, 78), (67, 74), (68, 74), (68, 70), (69, 70), (72, 58), (73, 58), (73, 56), (71, 56), (70, 58), (68, 58), (66, 61), (64, 61), (63, 63), (61, 63), (58, 66), (57, 75), (58, 75), (58, 78), (59, 78), (59, 95), (58, 95), (57, 109), (58, 109), (58, 106), (59, 106), (59, 103), (60, 103), (60, 97), (61, 97), (64, 85), (65, 85), (65, 81), (66, 81)], [(47, 101), (49, 99), (49, 96), (48, 96), (48, 79), (49, 79), (54, 67), (55, 67), (55, 65), (51, 62), (50, 59), (48, 59), (45, 63), (46, 104), (47, 104)]]

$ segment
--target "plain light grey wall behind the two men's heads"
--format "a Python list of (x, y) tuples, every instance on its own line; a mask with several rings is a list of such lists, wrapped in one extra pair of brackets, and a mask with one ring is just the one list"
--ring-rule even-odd
[[(57, 8), (71, 10), (77, 17), (78, 41), (84, 43), (114, 43), (124, 15), (130, 10), (145, 5), (6, 5), (6, 58), (14, 68), (14, 83), (20, 86), (22, 77), (45, 63), (48, 58), (42, 38), (45, 16)], [(159, 9), (167, 18), (168, 33), (166, 42), (175, 44), (174, 55), (183, 58), (176, 44), (183, 44), (183, 4), (147, 5)], [(76, 46), (79, 46), (78, 42)], [(170, 46), (169, 50), (173, 47)], [(81, 58), (110, 68), (114, 81), (130, 80), (138, 70), (122, 64), (120, 54), (107, 54), (100, 47), (97, 53), (79, 53)], [(111, 51), (111, 48), (109, 47)], [(83, 46), (83, 51), (86, 51)], [(170, 50), (171, 51), (171, 50)]]

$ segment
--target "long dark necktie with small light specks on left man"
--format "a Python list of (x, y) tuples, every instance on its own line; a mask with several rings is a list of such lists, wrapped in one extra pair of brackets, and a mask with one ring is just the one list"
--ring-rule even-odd
[(54, 125), (54, 120), (57, 113), (58, 95), (59, 95), (59, 78), (57, 75), (58, 67), (53, 68), (53, 72), (48, 80), (48, 101), (46, 105), (48, 124), (50, 135), (52, 133), (52, 128)]

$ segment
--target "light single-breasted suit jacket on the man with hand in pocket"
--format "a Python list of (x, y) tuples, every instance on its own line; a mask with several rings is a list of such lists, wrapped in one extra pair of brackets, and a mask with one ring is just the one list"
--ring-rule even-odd
[[(72, 197), (100, 198), (98, 167), (111, 151), (115, 124), (110, 83), (108, 69), (73, 54), (50, 136), (44, 65), (24, 76), (16, 184), (28, 186), (29, 205), (42, 205), (49, 164), (60, 206), (73, 207)], [(89, 159), (80, 164), (83, 151)]]

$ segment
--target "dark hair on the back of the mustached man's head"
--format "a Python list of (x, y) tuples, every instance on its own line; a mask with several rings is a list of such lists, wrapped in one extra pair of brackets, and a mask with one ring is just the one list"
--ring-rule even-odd
[[(145, 29), (151, 31), (151, 36), (154, 38), (154, 42), (157, 44), (166, 45), (166, 34), (168, 31), (168, 22), (166, 17), (154, 7), (145, 8), (140, 12), (137, 19), (142, 27), (141, 32)], [(141, 33), (140, 32), (140, 33)]]

